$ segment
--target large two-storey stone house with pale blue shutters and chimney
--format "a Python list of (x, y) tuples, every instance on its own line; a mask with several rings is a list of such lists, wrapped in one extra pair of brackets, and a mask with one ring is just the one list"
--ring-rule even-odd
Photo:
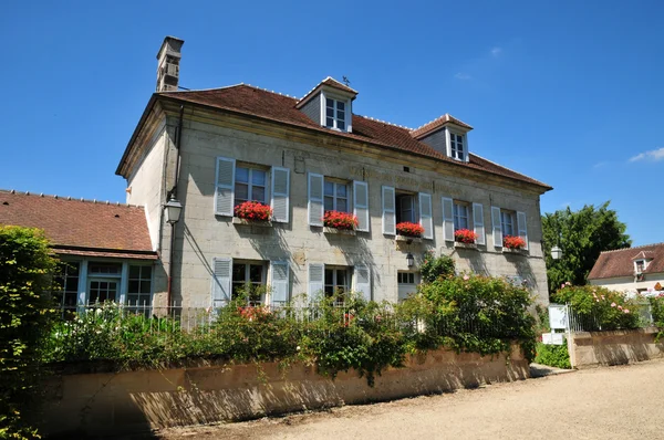
[[(301, 98), (246, 84), (178, 91), (183, 43), (164, 40), (157, 92), (116, 170), (159, 255), (155, 304), (221, 306), (246, 283), (269, 286), (253, 300), (274, 304), (336, 290), (397, 301), (426, 252), (548, 302), (539, 198), (551, 187), (473, 154), (468, 124), (445, 114), (412, 129), (353, 114), (357, 91), (331, 77)], [(183, 206), (172, 226), (169, 199)], [(238, 218), (246, 201), (270, 206), (271, 220)], [(325, 228), (328, 211), (357, 227)], [(401, 237), (402, 222), (422, 238)], [(456, 243), (458, 229), (476, 243)]]

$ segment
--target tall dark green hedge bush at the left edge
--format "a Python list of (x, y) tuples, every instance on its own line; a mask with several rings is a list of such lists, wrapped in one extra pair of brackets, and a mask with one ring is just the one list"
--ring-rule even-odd
[(35, 229), (0, 226), (0, 436), (37, 433), (21, 415), (39, 380), (42, 343), (52, 323), (49, 292), (55, 260)]

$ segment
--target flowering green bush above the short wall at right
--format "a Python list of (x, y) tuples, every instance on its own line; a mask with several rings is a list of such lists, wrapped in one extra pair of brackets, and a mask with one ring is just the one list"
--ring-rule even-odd
[(639, 305), (620, 292), (596, 285), (574, 286), (566, 283), (552, 300), (560, 304), (569, 303), (588, 332), (639, 327), (639, 314), (634, 313)]

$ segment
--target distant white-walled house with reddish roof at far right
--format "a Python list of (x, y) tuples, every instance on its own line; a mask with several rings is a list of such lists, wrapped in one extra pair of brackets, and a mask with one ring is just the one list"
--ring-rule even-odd
[(664, 285), (664, 243), (605, 251), (588, 275), (590, 284), (642, 293)]

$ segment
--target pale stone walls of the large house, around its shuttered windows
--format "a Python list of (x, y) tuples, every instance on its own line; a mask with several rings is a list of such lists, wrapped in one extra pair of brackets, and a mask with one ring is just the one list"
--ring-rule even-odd
[[(164, 223), (165, 193), (174, 186), (177, 158), (175, 135), (178, 107), (155, 106), (133, 143), (134, 155), (125, 177), (127, 202), (145, 206), (151, 237), (164, 270), (156, 271), (155, 304), (164, 304), (165, 277), (170, 266), (170, 228)], [(179, 143), (179, 179), (176, 196), (184, 206), (175, 226), (173, 301), (185, 306), (212, 304), (212, 262), (216, 258), (261, 261), (264, 281), (271, 283), (270, 262), (288, 262), (288, 296), (309, 290), (309, 263), (340, 268), (365, 265), (371, 273), (371, 298), (397, 301), (397, 272), (416, 272), (427, 251), (449, 254), (459, 272), (515, 276), (527, 282), (538, 303), (548, 303), (547, 275), (541, 249), (539, 197), (541, 187), (507, 177), (463, 169), (439, 160), (381, 149), (372, 145), (334, 139), (329, 135), (283, 125), (187, 107)], [(132, 145), (132, 143), (131, 143)], [(216, 161), (234, 158), (238, 164), (272, 166), (290, 170), (289, 222), (268, 227), (238, 224), (231, 217), (215, 214)], [(408, 171), (406, 171), (407, 167)], [(370, 231), (355, 235), (325, 233), (308, 222), (308, 174), (349, 182), (367, 184)], [(398, 241), (382, 233), (382, 187), (432, 196), (432, 240)], [(351, 185), (352, 188), (352, 185)], [(486, 244), (461, 249), (445, 241), (442, 198), (481, 203)], [(501, 207), (526, 214), (529, 250), (504, 253), (494, 245), (491, 209)], [(470, 220), (473, 224), (473, 220)], [(408, 269), (406, 254), (415, 256)], [(351, 269), (352, 271), (352, 269)], [(159, 275), (160, 274), (160, 275)], [(159, 276), (164, 277), (159, 280)], [(353, 276), (355, 277), (355, 276)], [(355, 287), (355, 281), (352, 283)]]

